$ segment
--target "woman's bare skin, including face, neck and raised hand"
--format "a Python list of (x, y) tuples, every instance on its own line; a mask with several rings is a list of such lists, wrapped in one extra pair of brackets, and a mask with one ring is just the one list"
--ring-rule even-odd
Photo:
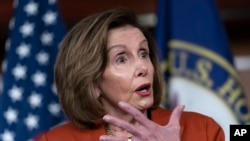
[(148, 42), (135, 27), (125, 25), (109, 31), (108, 62), (97, 87), (97, 97), (107, 115), (103, 120), (115, 136), (103, 135), (101, 141), (180, 141), (179, 119), (183, 106), (177, 107), (166, 126), (147, 118), (153, 105), (154, 67)]

